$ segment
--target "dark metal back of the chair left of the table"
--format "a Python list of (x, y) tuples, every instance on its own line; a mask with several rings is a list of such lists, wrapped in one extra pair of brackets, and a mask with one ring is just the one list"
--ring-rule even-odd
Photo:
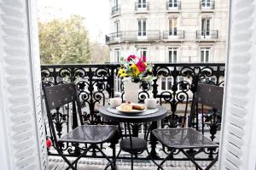
[(77, 96), (75, 84), (73, 83), (61, 84), (52, 87), (43, 87), (43, 90), (47, 117), (49, 121), (49, 131), (52, 134), (53, 144), (55, 144), (55, 148), (59, 149), (57, 135), (59, 138), (61, 138), (63, 119), (65, 119), (64, 113), (60, 112), (60, 108), (65, 105), (67, 106), (66, 116), (68, 118), (71, 112), (69, 111), (70, 104), (72, 104), (73, 112), (78, 111), (80, 123), (82, 125), (84, 124), (82, 121), (82, 112), (79, 104), (79, 98)]

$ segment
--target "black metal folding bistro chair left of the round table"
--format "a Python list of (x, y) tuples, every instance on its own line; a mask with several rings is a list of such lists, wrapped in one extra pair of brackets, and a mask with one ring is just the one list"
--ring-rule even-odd
[[(58, 154), (63, 158), (64, 161), (67, 162), (67, 169), (72, 168), (73, 170), (76, 170), (79, 159), (82, 156), (85, 156), (86, 153), (91, 149), (99, 150), (102, 156), (108, 160), (108, 165), (110, 164), (113, 169), (113, 161), (106, 156), (98, 144), (109, 142), (110, 139), (112, 139), (113, 136), (118, 132), (118, 128), (113, 125), (84, 125), (79, 98), (73, 83), (56, 85), (53, 87), (43, 87), (43, 89), (45, 106), (49, 120), (49, 130), (52, 134), (53, 144)], [(73, 111), (78, 111), (81, 125), (74, 128), (67, 134), (62, 135), (61, 138), (57, 138), (55, 132), (55, 111), (59, 111), (61, 106), (68, 105), (70, 103), (73, 104)], [(65, 156), (61, 150), (61, 144), (64, 142), (72, 144), (84, 144), (85, 149), (83, 149), (83, 153), (81, 153), (75, 159), (75, 161), (71, 162), (67, 160), (67, 156)]]

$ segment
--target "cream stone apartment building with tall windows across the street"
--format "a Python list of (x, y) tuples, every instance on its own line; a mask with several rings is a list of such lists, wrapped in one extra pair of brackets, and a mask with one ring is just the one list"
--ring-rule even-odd
[(224, 62), (228, 0), (110, 0), (110, 61)]

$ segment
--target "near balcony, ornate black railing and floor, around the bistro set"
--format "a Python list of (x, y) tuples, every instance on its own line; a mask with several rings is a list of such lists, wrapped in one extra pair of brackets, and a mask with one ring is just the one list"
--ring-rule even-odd
[[(61, 83), (74, 82), (77, 86), (79, 96), (81, 97), (81, 103), (83, 106), (83, 117), (84, 122), (89, 124), (102, 124), (109, 123), (108, 121), (102, 119), (98, 115), (98, 108), (102, 105), (108, 105), (108, 99), (110, 97), (123, 94), (124, 92), (115, 90), (117, 84), (120, 87), (123, 86), (122, 82), (116, 83), (119, 79), (115, 76), (118, 70), (119, 65), (116, 64), (105, 64), (105, 65), (42, 65), (41, 66), (41, 77), (44, 86), (53, 86)], [(154, 64), (153, 68), (154, 76), (158, 77), (157, 81), (152, 83), (142, 83), (140, 92), (138, 92), (138, 100), (143, 102), (145, 96), (149, 94), (154, 94), (156, 99), (159, 99), (161, 105), (164, 105), (168, 111), (166, 118), (160, 120), (159, 125), (162, 127), (180, 127), (183, 123), (184, 115), (189, 115), (190, 112), (190, 101), (195, 94), (196, 84), (198, 82), (211, 83), (217, 86), (224, 85), (224, 64)], [(172, 80), (170, 84), (170, 90), (160, 90), (162, 77), (176, 77), (175, 81)], [(214, 77), (214, 79), (211, 79)], [(211, 80), (211, 81), (209, 81)], [(211, 136), (214, 142), (218, 142), (218, 133), (220, 128), (218, 124), (220, 123), (221, 116), (212, 116), (211, 111), (207, 110), (207, 107), (204, 108), (204, 111), (207, 111), (205, 114), (206, 119), (205, 123), (205, 135)], [(67, 133), (67, 129), (72, 129), (73, 124), (78, 124), (77, 113), (68, 112), (69, 109), (61, 108), (61, 111), (64, 111), (64, 114), (59, 115), (59, 121), (55, 122), (58, 134)], [(68, 116), (68, 114), (70, 116)], [(209, 114), (209, 115), (208, 115)], [(207, 117), (208, 116), (208, 117)], [(212, 121), (214, 119), (214, 121)], [(196, 120), (196, 119), (195, 119)], [(209, 123), (212, 122), (212, 123)], [(46, 122), (47, 123), (47, 122)], [(198, 122), (197, 122), (198, 123)], [(132, 127), (135, 129), (134, 135), (143, 137), (145, 134), (145, 129), (148, 129), (147, 123), (145, 124), (134, 124)], [(194, 122), (196, 127), (196, 122)], [(47, 127), (47, 126), (46, 126)], [(201, 131), (201, 127), (197, 126), (198, 130)], [(120, 127), (122, 131), (125, 131), (125, 127)], [(214, 130), (213, 130), (214, 129)], [(218, 133), (216, 133), (218, 130)], [(51, 133), (47, 130), (47, 136), (51, 137)], [(116, 145), (115, 145), (116, 144)], [(113, 147), (113, 146), (116, 146)], [(108, 156), (112, 156), (113, 150), (119, 150), (118, 141), (112, 141), (111, 144), (103, 144), (105, 152)], [(151, 156), (156, 160), (160, 161), (166, 157), (168, 150), (163, 149), (160, 143), (157, 143), (154, 138), (148, 139), (148, 148), (150, 150)], [(80, 153), (83, 148), (65, 142), (65, 147), (62, 147), (61, 150), (66, 156), (76, 156), (74, 153)], [(203, 165), (206, 161), (212, 160), (212, 156), (216, 156), (218, 150), (209, 151), (207, 148), (201, 150), (196, 160), (200, 160)], [(55, 148), (51, 147), (48, 150), (48, 155), (51, 158), (52, 156), (58, 156), (56, 154)], [(90, 154), (84, 156), (84, 162), (90, 162), (90, 166), (96, 165), (98, 167), (104, 167), (106, 162), (102, 161), (101, 155), (97, 150), (91, 150)], [(57, 160), (54, 157), (55, 160)], [(60, 158), (61, 159), (61, 158)], [(90, 160), (88, 160), (90, 159)], [(127, 159), (130, 159), (130, 155), (121, 154), (119, 156), (118, 166), (129, 166), (127, 165)], [(143, 153), (137, 156), (135, 166), (152, 166), (149, 163), (149, 158), (147, 154)], [(101, 160), (101, 161), (100, 161)], [(100, 162), (99, 162), (100, 161)], [(195, 169), (193, 165), (189, 163), (187, 158), (184, 158), (181, 153), (174, 153), (170, 156), (170, 161), (164, 165), (165, 169), (186, 166), (186, 169)], [(83, 162), (83, 161), (82, 161)], [(50, 162), (50, 164), (63, 164), (59, 162)], [(81, 163), (81, 162), (80, 162)], [(83, 167), (79, 165), (79, 167)], [(88, 166), (88, 164), (87, 164)], [(129, 167), (128, 167), (129, 169)], [(182, 169), (182, 168), (181, 168)]]

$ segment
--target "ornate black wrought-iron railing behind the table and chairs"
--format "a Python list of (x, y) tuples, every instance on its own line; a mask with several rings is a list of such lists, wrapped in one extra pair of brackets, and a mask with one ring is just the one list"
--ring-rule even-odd
[[(215, 63), (195, 63), (195, 64), (154, 64), (153, 74), (158, 77), (153, 82), (142, 82), (141, 91), (138, 92), (138, 101), (143, 102), (151, 94), (153, 97), (160, 100), (161, 105), (166, 105), (168, 108), (168, 116), (160, 121), (160, 127), (183, 127), (186, 122), (187, 116), (189, 116), (189, 105), (195, 94), (197, 83), (206, 82), (217, 86), (224, 86), (224, 64)], [(83, 106), (83, 121), (88, 124), (102, 124), (111, 123), (98, 115), (98, 108), (102, 105), (108, 105), (108, 99), (115, 96), (115, 79), (119, 64), (104, 64), (104, 65), (42, 65), (41, 77), (44, 86), (54, 86), (57, 84), (74, 82), (76, 84), (79, 99)], [(168, 90), (162, 90), (160, 83), (162, 78), (172, 77), (172, 83)], [(123, 92), (123, 83), (119, 83), (120, 89)], [(182, 108), (182, 109), (181, 109)], [(68, 108), (62, 108), (60, 111), (66, 111), (66, 113), (60, 114), (55, 117), (55, 127), (58, 134), (64, 134), (68, 132), (68, 129), (72, 129), (78, 125), (77, 113), (69, 113), (72, 116), (68, 116)], [(218, 117), (220, 119), (221, 117)], [(71, 120), (72, 119), (72, 120)], [(211, 117), (209, 118), (209, 120)], [(208, 121), (209, 121), (208, 120)], [(211, 121), (211, 120), (210, 120)], [(215, 121), (214, 121), (215, 122)], [(216, 121), (219, 123), (220, 120)], [(155, 122), (156, 123), (156, 122)], [(66, 126), (66, 127), (65, 127)], [(147, 125), (137, 125), (133, 127), (137, 128), (133, 132), (143, 132), (141, 127), (147, 128)], [(157, 127), (158, 125), (155, 124)], [(212, 127), (211, 127), (212, 126)], [(209, 132), (211, 133), (212, 140), (215, 137), (216, 129), (211, 131), (211, 128), (216, 126), (210, 124)], [(50, 132), (47, 133), (50, 136)], [(134, 134), (137, 135), (137, 134)], [(113, 145), (119, 141), (116, 139), (112, 141), (110, 148), (113, 149)], [(153, 137), (150, 138), (148, 147), (151, 148), (151, 155), (156, 159), (157, 153), (161, 150), (156, 150), (157, 141)], [(79, 153), (77, 145), (63, 144), (61, 150), (67, 156), (76, 156)], [(168, 150), (163, 149), (164, 152)], [(91, 157), (96, 157), (96, 150), (92, 150)], [(200, 160), (212, 159), (212, 155), (216, 152), (207, 152), (209, 158), (201, 158)], [(177, 153), (174, 153), (173, 160), (185, 160), (183, 158), (175, 157)], [(49, 155), (56, 155), (55, 152), (49, 152)], [(98, 156), (100, 157), (100, 156)], [(128, 157), (121, 156), (121, 159), (127, 159)], [(139, 157), (138, 159), (148, 159), (147, 157)]]

